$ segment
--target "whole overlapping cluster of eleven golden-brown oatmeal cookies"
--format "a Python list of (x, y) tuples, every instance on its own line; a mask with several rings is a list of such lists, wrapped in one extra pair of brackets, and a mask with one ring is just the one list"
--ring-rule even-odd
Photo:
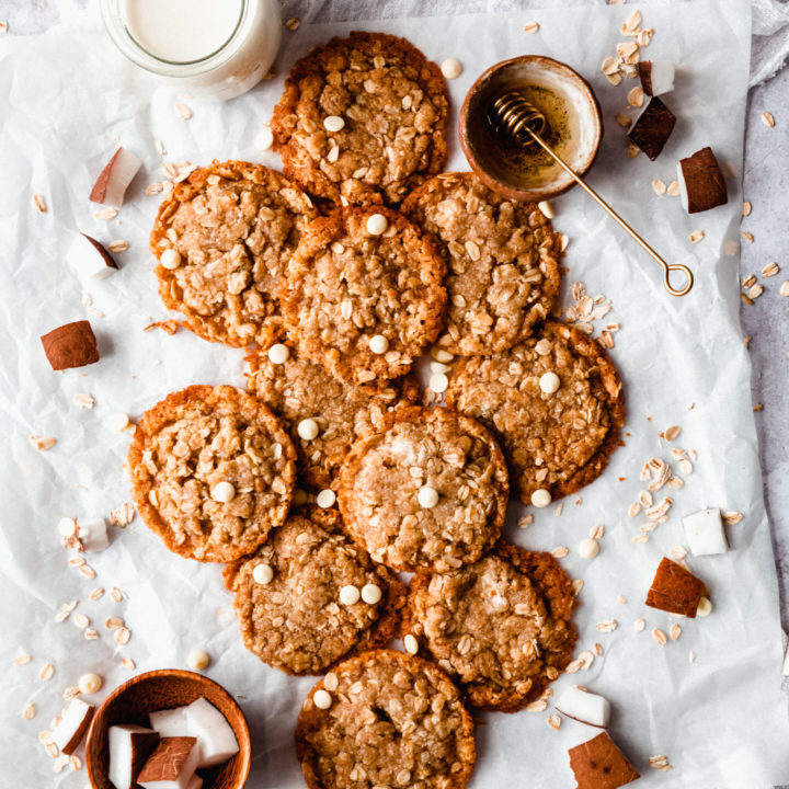
[[(147, 412), (136, 501), (168, 548), (226, 563), (252, 652), (323, 675), (297, 725), (313, 789), (458, 789), (466, 706), (514, 712), (559, 676), (573, 588), (502, 538), (510, 491), (545, 506), (590, 483), (624, 422), (603, 348), (551, 318), (550, 221), (442, 174), (448, 111), (407, 41), (332, 39), (274, 112), (284, 174), (215, 161), (151, 235), (164, 304), (249, 348), (249, 391)], [(428, 350), (445, 403), (420, 391)]]

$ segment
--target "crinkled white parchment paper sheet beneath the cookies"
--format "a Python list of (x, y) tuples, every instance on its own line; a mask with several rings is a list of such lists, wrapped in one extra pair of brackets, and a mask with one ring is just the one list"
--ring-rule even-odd
[[(171, 92), (156, 88), (114, 52), (93, 8), (71, 26), (16, 41), (13, 47), (9, 43), (0, 62), (3, 785), (87, 782), (83, 771), (68, 768), (53, 776), (52, 761), (36, 740), (60, 710), (64, 688), (82, 672), (103, 674), (106, 691), (126, 678), (118, 666), (125, 655), (141, 671), (183, 666), (191, 649), (203, 648), (214, 658), (207, 673), (240, 696), (249, 717), (254, 737), (249, 786), (302, 786), (293, 730), (312, 679), (286, 677), (243, 649), (220, 568), (170, 554), (137, 518), (125, 530), (114, 529), (111, 547), (90, 558), (99, 575), (87, 581), (66, 564), (56, 524), (64, 515), (105, 513), (129, 499), (122, 471), (128, 435), (108, 432), (102, 423), (106, 414), (138, 416), (165, 393), (193, 382), (243, 384), (242, 352), (186, 331), (175, 336), (141, 331), (151, 318), (169, 317), (158, 299), (147, 251), (159, 198), (146, 197), (144, 190), (162, 178), (155, 140), (164, 141), (171, 162), (205, 163), (216, 157), (278, 167), (276, 156), (255, 150), (254, 138), (259, 124), (271, 117), (283, 75), (312, 44), (353, 28), (405, 35), (436, 61), (458, 57), (465, 71), (450, 84), (455, 111), (484, 68), (526, 53), (569, 62), (595, 88), (606, 137), (591, 182), (667, 259), (691, 265), (696, 287), (684, 299), (668, 297), (658, 266), (580, 191), (554, 202), (554, 224), (571, 239), (564, 304), (570, 304), (569, 285), (583, 281), (591, 295), (605, 294), (614, 304), (598, 330), (610, 321), (622, 325), (611, 355), (625, 380), (627, 446), (614, 455), (604, 477), (582, 492), (580, 504), (571, 496), (561, 515), (551, 505), (536, 514), (528, 530), (511, 527), (508, 534), (531, 548), (571, 548), (563, 564), (585, 581), (576, 619), (579, 651), (599, 642), (605, 652), (588, 672), (562, 677), (554, 689), (559, 694), (580, 683), (611, 700), (611, 734), (643, 774), (640, 786), (763, 789), (789, 782), (777, 587), (750, 366), (737, 321), (736, 259), (723, 253), (727, 240), (739, 239), (750, 8), (710, 1), (644, 9), (644, 26), (656, 31), (648, 57), (678, 66), (676, 90), (665, 96), (678, 122), (654, 163), (643, 156), (628, 159), (624, 132), (614, 121), (615, 113), (627, 111), (626, 94), (634, 82), (615, 88), (599, 72), (634, 8), (302, 25), (286, 34), (276, 79), (222, 105), (187, 101), (194, 113), (188, 122), (175, 114)], [(527, 35), (523, 24), (531, 20), (539, 21), (540, 30)], [(456, 115), (453, 135), (455, 123)], [(101, 222), (87, 197), (116, 140), (141, 157), (145, 168), (118, 218)], [(677, 159), (706, 145), (731, 169), (729, 205), (688, 217), (676, 198), (656, 196), (650, 182), (671, 182)], [(454, 136), (450, 168), (467, 169)], [(32, 207), (34, 193), (45, 197), (46, 214)], [(123, 267), (117, 274), (99, 283), (78, 281), (64, 260), (69, 233), (77, 228), (104, 242), (129, 241), (130, 249), (118, 255)], [(690, 244), (688, 235), (697, 229), (706, 237)], [(38, 336), (84, 318), (87, 291), (105, 313), (90, 318), (102, 358), (84, 369), (53, 373)], [(79, 409), (72, 401), (77, 392), (93, 395), (95, 408)], [(670, 459), (659, 433), (672, 424), (683, 427), (675, 445), (696, 449), (698, 461), (685, 488), (672, 492), (671, 521), (649, 544), (633, 545), (641, 519), (627, 517), (628, 505), (642, 488), (644, 460), (653, 455)], [(34, 433), (56, 436), (57, 446), (37, 453), (30, 442)], [(650, 631), (668, 631), (676, 620), (645, 608), (642, 601), (661, 557), (684, 541), (679, 516), (702, 506), (740, 510), (745, 518), (729, 527), (728, 554), (689, 562), (711, 590), (712, 616), (683, 620), (679, 640), (660, 647)], [(519, 514), (513, 506), (513, 524)], [(606, 527), (601, 554), (583, 561), (576, 542), (601, 523)], [(105, 595), (89, 602), (95, 586), (118, 586), (128, 599), (116, 604)], [(617, 602), (619, 595), (627, 604)], [(80, 601), (78, 610), (91, 618), (100, 640), (85, 641), (72, 621), (54, 622), (60, 605), (71, 599)], [(102, 626), (110, 614), (123, 616), (133, 631), (124, 648)], [(633, 622), (642, 616), (647, 629), (637, 634)], [(619, 627), (598, 632), (595, 624), (609, 618)], [(13, 666), (21, 652), (32, 653), (33, 662)], [(55, 677), (41, 683), (38, 672), (46, 662), (56, 666)], [(21, 711), (30, 702), (37, 706), (37, 716), (25, 722)], [(565, 720), (556, 732), (546, 725), (547, 714), (484, 716), (471, 786), (572, 787), (567, 748), (596, 731)], [(653, 754), (666, 754), (674, 770), (651, 770)]]

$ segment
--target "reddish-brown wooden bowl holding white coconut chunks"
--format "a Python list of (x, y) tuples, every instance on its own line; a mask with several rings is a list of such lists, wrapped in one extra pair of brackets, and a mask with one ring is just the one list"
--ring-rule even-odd
[(239, 752), (224, 765), (201, 770), (204, 789), (241, 789), (250, 770), (252, 746), (241, 708), (221, 685), (193, 672), (164, 668), (133, 677), (116, 687), (95, 711), (88, 730), (85, 769), (93, 789), (113, 789), (107, 778), (110, 748), (107, 730), (118, 723), (149, 725), (148, 713), (183, 707), (204, 696), (227, 719), (238, 740)]

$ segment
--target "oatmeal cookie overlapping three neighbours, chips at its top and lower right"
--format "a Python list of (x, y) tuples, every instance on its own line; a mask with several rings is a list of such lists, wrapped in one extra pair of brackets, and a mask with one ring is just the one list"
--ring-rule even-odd
[(336, 378), (384, 388), (438, 335), (443, 276), (434, 243), (403, 216), (343, 208), (316, 219), (290, 260), (281, 294), (288, 334)]

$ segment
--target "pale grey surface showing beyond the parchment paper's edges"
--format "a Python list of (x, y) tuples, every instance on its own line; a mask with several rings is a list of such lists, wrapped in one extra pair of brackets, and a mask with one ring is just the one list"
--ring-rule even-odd
[[(85, 0), (70, 0), (84, 5)], [(58, 21), (55, 0), (0, 0), (0, 21), (9, 23), (7, 35), (42, 33)], [(767, 110), (774, 128), (761, 119)], [(757, 274), (776, 261), (781, 272), (769, 279), (759, 276), (764, 295), (753, 306), (742, 304), (743, 335), (751, 336), (753, 361), (751, 388), (756, 413), (764, 491), (773, 526), (778, 579), (781, 588), (784, 629), (789, 629), (789, 298), (778, 293), (789, 279), (789, 67), (766, 84), (751, 90), (745, 138), (744, 195), (753, 205), (743, 230), (754, 236), (743, 241), (742, 277)]]

